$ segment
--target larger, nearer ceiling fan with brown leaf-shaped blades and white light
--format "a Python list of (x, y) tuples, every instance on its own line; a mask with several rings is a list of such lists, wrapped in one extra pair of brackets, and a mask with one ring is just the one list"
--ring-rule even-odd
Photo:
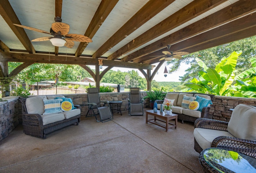
[[(74, 46), (73, 41), (80, 41), (80, 42), (87, 42), (87, 43), (92, 42), (92, 40), (87, 36), (83, 36), (80, 34), (68, 34), (69, 30), (70, 30), (70, 26), (67, 23), (62, 23), (62, 19), (60, 17), (55, 17), (54, 20), (55, 20), (55, 23), (52, 23), (50, 32), (36, 29), (33, 27), (18, 25), (18, 24), (14, 24), (14, 25), (16, 25), (18, 27), (23, 27), (25, 29), (29, 29), (32, 31), (50, 34), (53, 37), (40, 37), (40, 38), (31, 40), (31, 41), (50, 40), (52, 42), (52, 45), (58, 46), (58, 47), (66, 46), (67, 48), (72, 48)], [(62, 38), (62, 37), (64, 37), (64, 38)]]

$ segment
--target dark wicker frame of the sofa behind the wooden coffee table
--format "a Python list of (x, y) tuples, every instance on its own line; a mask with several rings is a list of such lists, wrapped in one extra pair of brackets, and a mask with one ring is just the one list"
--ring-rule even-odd
[[(211, 101), (213, 101), (213, 97), (214, 97), (213, 94), (204, 94), (204, 93), (197, 93), (197, 92), (168, 92), (168, 93), (193, 94), (193, 96), (194, 96), (195, 94), (208, 95), (208, 96), (211, 97)], [(163, 104), (163, 103), (164, 103), (164, 100), (156, 100), (156, 102), (157, 102), (157, 104)], [(201, 118), (208, 118), (210, 108), (211, 108), (211, 106), (204, 107), (204, 108), (202, 109)], [(189, 115), (185, 115), (185, 114), (180, 114), (180, 113), (176, 113), (176, 112), (173, 112), (173, 113), (175, 113), (175, 114), (178, 115), (178, 119), (179, 119), (179, 120), (182, 120), (182, 124), (183, 124), (183, 121), (195, 122), (195, 120), (198, 119), (198, 117), (193, 117), (193, 116), (189, 116)]]

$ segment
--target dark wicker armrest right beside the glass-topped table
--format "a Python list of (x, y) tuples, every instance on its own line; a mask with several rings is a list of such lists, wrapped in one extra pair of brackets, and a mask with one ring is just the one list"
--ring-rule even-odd
[(219, 136), (213, 139), (212, 147), (231, 149), (256, 158), (256, 141), (229, 136)]

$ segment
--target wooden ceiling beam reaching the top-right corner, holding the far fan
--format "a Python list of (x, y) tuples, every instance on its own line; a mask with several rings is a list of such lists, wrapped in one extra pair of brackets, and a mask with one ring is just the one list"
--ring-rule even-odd
[(192, 23), (170, 34), (169, 36), (166, 36), (152, 44), (145, 46), (140, 50), (137, 50), (134, 53), (129, 54), (128, 56), (122, 58), (121, 61), (126, 61), (126, 59), (129, 59), (129, 60), (137, 59), (146, 54), (162, 49), (166, 47), (167, 44), (175, 44), (179, 41), (195, 36), (201, 32), (205, 32), (214, 27), (218, 27), (221, 24), (227, 23), (231, 20), (247, 15), (251, 12), (254, 12), (255, 10), (256, 10), (256, 1), (254, 0), (237, 1), (231, 4), (230, 6), (227, 6), (203, 19), (196, 21), (195, 23)]

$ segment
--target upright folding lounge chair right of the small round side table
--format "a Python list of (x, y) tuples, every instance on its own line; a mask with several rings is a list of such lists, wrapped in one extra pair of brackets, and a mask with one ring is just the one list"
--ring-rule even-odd
[(143, 115), (143, 105), (142, 102), (144, 99), (141, 99), (140, 88), (130, 88), (129, 92), (129, 114), (132, 115)]

